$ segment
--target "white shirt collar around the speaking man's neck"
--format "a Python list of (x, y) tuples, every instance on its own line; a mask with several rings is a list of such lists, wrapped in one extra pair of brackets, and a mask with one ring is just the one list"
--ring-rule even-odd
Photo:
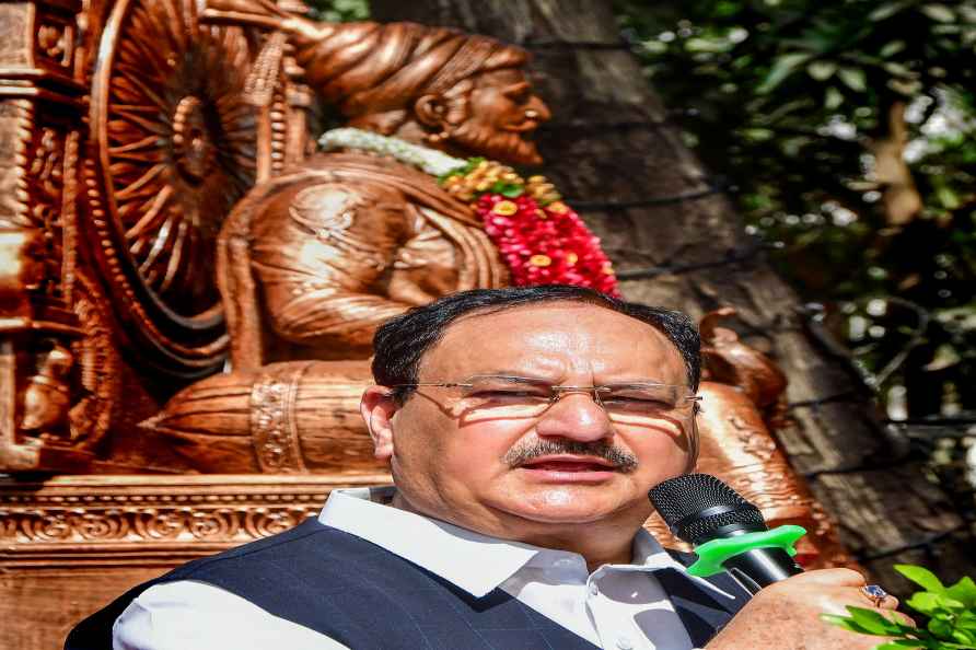
[[(318, 521), (385, 548), (475, 597), (498, 588), (530, 562), (537, 566), (567, 555), (567, 552), (490, 537), (385, 506), (395, 490), (393, 486), (333, 490)], [(675, 569), (696, 585), (732, 597), (707, 580), (688, 576), (685, 567), (643, 529), (634, 539), (634, 564), (613, 567), (632, 571)]]

